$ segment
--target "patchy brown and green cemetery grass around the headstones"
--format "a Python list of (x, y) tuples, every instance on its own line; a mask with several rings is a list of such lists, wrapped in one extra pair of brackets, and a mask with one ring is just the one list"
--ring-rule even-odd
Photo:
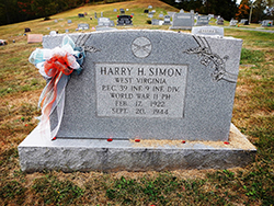
[(225, 28), (226, 36), (243, 39), (232, 123), (258, 148), (252, 164), (228, 170), (163, 172), (27, 174), (21, 171), (16, 148), (37, 125), (35, 117), (41, 114), (37, 102), (45, 87), (38, 70), (27, 61), (42, 44), (27, 44), (26, 36), (22, 35), (24, 27), (44, 35), (50, 30), (65, 33), (70, 19), (72, 33), (78, 23), (96, 25), (96, 21), (89, 18), (84, 22), (79, 20), (79, 12), (94, 18), (95, 11), (98, 14), (103, 11), (104, 16), (116, 21), (113, 9), (128, 8), (135, 13), (130, 28), (168, 30), (167, 25), (147, 24), (147, 16), (141, 14), (149, 4), (157, 12), (176, 11), (160, 1), (130, 1), (83, 7), (52, 16), (49, 21), (41, 19), (0, 27), (0, 37), (9, 42), (0, 47), (0, 205), (274, 204), (274, 35), (263, 32)]

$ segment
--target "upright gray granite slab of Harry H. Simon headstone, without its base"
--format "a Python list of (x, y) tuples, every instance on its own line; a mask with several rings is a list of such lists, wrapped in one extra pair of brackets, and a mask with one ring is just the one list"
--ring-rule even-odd
[(70, 36), (93, 49), (69, 81), (57, 137), (227, 140), (241, 41), (163, 31)]

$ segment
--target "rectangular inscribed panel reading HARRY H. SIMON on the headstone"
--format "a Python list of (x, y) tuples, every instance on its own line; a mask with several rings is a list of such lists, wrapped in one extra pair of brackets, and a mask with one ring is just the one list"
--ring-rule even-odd
[(98, 116), (182, 118), (186, 65), (95, 64)]

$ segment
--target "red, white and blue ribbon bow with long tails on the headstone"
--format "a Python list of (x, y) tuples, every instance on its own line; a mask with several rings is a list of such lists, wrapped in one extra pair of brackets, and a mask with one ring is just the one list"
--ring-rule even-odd
[[(47, 80), (38, 106), (42, 108), (39, 128), (44, 136), (54, 139), (59, 130), (65, 106), (65, 90), (70, 75), (76, 70), (81, 72), (84, 52), (76, 47), (73, 41), (66, 35), (61, 47), (54, 49), (36, 48), (30, 56), (30, 62), (39, 69), (41, 75)], [(57, 125), (50, 128), (49, 117), (56, 110)]]

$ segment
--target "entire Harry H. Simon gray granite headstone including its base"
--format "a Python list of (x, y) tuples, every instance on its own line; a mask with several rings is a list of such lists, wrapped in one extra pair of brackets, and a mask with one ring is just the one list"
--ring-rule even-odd
[[(60, 46), (64, 36), (45, 36), (43, 46)], [(149, 30), (69, 36), (85, 49), (84, 69), (66, 87), (56, 140), (38, 126), (20, 144), (22, 171), (226, 169), (252, 161), (255, 148), (230, 127), (241, 39)], [(49, 119), (54, 128), (56, 111)]]

